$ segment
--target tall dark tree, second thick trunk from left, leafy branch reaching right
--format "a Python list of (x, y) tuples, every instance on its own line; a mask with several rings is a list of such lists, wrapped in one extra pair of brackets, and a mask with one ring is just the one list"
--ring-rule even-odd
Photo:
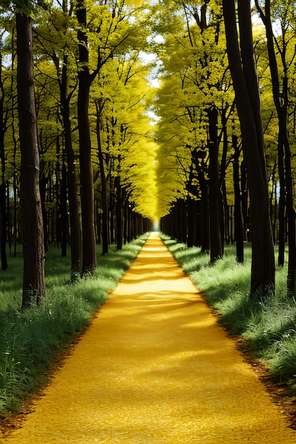
[[(142, 44), (145, 26), (129, 19), (138, 9), (124, 2), (106, 1), (87, 9), (84, 0), (77, 1), (79, 23), (78, 131), (80, 137), (80, 181), (82, 205), (82, 273), (93, 272), (96, 265), (94, 233), (94, 187), (92, 140), (89, 128), (89, 91), (102, 67), (116, 53), (124, 53)], [(89, 17), (87, 21), (87, 15)], [(136, 17), (135, 17), (136, 18)], [(135, 21), (136, 22), (136, 21)], [(145, 32), (144, 32), (145, 34)], [(92, 38), (89, 38), (89, 37)], [(91, 57), (89, 57), (91, 54)]]

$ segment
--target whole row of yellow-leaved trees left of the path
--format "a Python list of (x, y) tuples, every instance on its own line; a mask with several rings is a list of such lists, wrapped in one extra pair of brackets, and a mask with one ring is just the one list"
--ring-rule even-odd
[[(119, 7), (112, 2), (96, 7), (81, 1), (75, 5), (76, 9), (73, 9), (74, 5), (69, 8), (65, 1), (51, 6), (50, 2), (44, 5), (40, 2), (40, 6), (45, 8), (35, 9), (33, 36), (28, 36), (27, 33), (32, 28), (31, 2), (21, 2), (16, 6), (17, 21), (9, 1), (2, 3), (0, 9), (3, 13), (1, 18), (3, 17), (4, 26), (1, 33), (1, 55), (4, 56), (4, 63), (1, 64), (0, 111), (2, 121), (5, 121), (0, 134), (1, 177), (4, 189), (4, 199), (1, 202), (5, 206), (4, 212), (1, 212), (1, 221), (3, 221), (1, 226), (7, 229), (7, 234), (4, 234), (5, 239), (2, 238), (4, 250), (7, 240), (11, 248), (13, 237), (15, 242), (23, 242), (24, 276), (28, 277), (24, 279), (23, 306), (26, 307), (31, 302), (38, 303), (45, 296), (44, 259), (48, 243), (62, 246), (62, 254), (66, 254), (67, 244), (70, 243), (72, 280), (80, 274), (94, 271), (96, 243), (102, 241), (103, 234), (103, 207), (99, 183), (104, 179), (106, 181), (107, 200), (104, 218), (107, 226), (104, 241), (108, 245), (116, 240), (118, 247), (121, 248), (123, 242), (150, 228), (150, 219), (155, 217), (155, 202), (151, 205), (150, 197), (148, 197), (149, 202), (145, 204), (145, 201), (149, 188), (155, 187), (153, 182), (155, 177), (149, 175), (151, 182), (144, 190), (138, 188), (142, 183), (135, 184), (129, 174), (130, 166), (136, 167), (140, 162), (143, 165), (143, 152), (146, 152), (144, 146), (147, 145), (147, 140), (153, 143), (149, 119), (145, 116), (148, 81), (142, 79), (143, 89), (139, 90), (139, 96), (132, 91), (135, 84), (131, 85), (131, 91), (126, 96), (128, 102), (123, 104), (126, 116), (129, 113), (128, 119), (122, 118), (122, 106), (117, 106), (116, 94), (111, 96), (105, 91), (106, 83), (111, 84), (110, 91), (116, 88), (115, 84), (112, 86), (114, 77), (110, 75), (111, 73), (106, 70), (104, 76), (101, 74), (99, 82), (94, 82), (109, 60), (114, 63), (112, 67), (109, 63), (109, 69), (110, 67), (114, 69), (122, 91), (129, 88), (129, 85), (128, 87), (126, 85), (132, 84), (133, 78), (136, 79), (137, 76), (141, 78), (142, 72), (147, 73), (147, 68), (141, 65), (139, 55), (146, 38), (146, 28), (139, 26), (138, 23), (142, 20), (140, 16), (145, 14), (139, 14), (136, 18), (137, 11), (140, 10), (128, 10), (127, 6), (124, 8), (124, 4)], [(89, 14), (87, 23), (80, 16), (84, 13)], [(128, 18), (130, 14), (134, 14), (133, 20)], [(18, 35), (21, 35), (17, 40), (17, 65), (14, 63), (15, 28)], [(89, 40), (85, 40), (85, 37)], [(126, 53), (131, 48), (134, 50), (137, 45), (136, 70), (141, 74), (136, 74), (136, 70), (130, 66), (128, 71), (124, 69), (121, 72), (126, 72), (126, 78), (120, 79), (118, 73), (121, 70), (121, 60), (124, 60)], [(22, 57), (27, 59), (24, 60)], [(35, 78), (33, 78), (33, 63)], [(117, 72), (116, 64), (119, 68)], [(18, 70), (17, 79), (15, 66)], [(85, 72), (89, 77), (82, 78)], [(105, 82), (102, 82), (102, 77), (105, 77)], [(107, 77), (108, 82), (106, 82)], [(136, 82), (139, 84), (138, 79)], [(15, 110), (9, 108), (9, 105), (16, 104), (16, 100), (13, 100), (13, 94), (16, 96), (13, 88), (16, 85), (19, 118)], [(94, 99), (93, 96), (89, 99), (91, 88)], [(7, 96), (11, 98), (10, 101), (5, 100)], [(98, 97), (99, 100), (109, 104), (104, 113), (97, 114), (97, 121), (102, 126), (100, 160), (97, 156), (99, 147), (98, 138), (94, 138), (96, 123), (93, 118), (95, 101)], [(138, 106), (137, 102), (141, 106)], [(113, 114), (112, 125), (109, 124), (110, 111)], [(133, 123), (132, 128), (131, 114), (135, 121), (138, 121), (138, 125)], [(146, 122), (145, 129), (140, 128), (143, 121)], [(19, 138), (16, 132), (17, 126), (20, 128)], [(87, 133), (82, 130), (86, 130)], [(30, 140), (26, 138), (27, 135), (31, 136)], [(130, 155), (128, 151), (132, 146), (133, 155)], [(136, 150), (139, 152), (141, 150), (141, 156), (138, 158), (135, 155)], [(151, 150), (150, 156), (152, 171), (154, 150)], [(107, 165), (106, 177), (103, 177), (102, 171), (105, 165)], [(18, 213), (20, 172), (21, 218)], [(84, 182), (87, 183), (87, 187), (84, 187)], [(141, 206), (136, 204), (139, 198)], [(8, 215), (7, 220), (4, 218), (5, 211)], [(141, 212), (142, 215), (139, 213), (136, 215), (135, 211)], [(82, 233), (81, 221), (84, 221)], [(81, 238), (82, 243), (80, 243)], [(88, 239), (91, 239), (92, 248)], [(81, 248), (81, 245), (84, 247)], [(35, 256), (27, 260), (29, 253)], [(3, 260), (2, 263), (4, 264)], [(35, 274), (36, 270), (38, 274)]]

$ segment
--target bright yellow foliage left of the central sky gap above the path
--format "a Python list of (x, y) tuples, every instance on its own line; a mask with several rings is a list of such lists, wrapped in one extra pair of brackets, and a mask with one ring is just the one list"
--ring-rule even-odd
[(134, 211), (155, 221), (157, 145), (146, 115), (151, 94), (147, 76), (148, 67), (141, 65), (136, 50), (109, 59), (92, 85), (90, 109), (93, 128), (97, 110), (100, 113), (102, 151), (111, 165), (109, 174), (120, 174)]

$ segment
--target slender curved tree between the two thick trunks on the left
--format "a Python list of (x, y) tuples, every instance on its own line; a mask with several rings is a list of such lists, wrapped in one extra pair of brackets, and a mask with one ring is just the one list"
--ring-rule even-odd
[[(49, 12), (49, 13), (48, 13)], [(64, 152), (67, 159), (67, 196), (70, 212), (70, 248), (71, 248), (71, 280), (77, 279), (81, 272), (81, 227), (79, 214), (79, 199), (77, 192), (77, 167), (75, 166), (75, 150), (72, 141), (71, 100), (77, 89), (75, 53), (77, 40), (73, 28), (75, 21), (71, 17), (72, 8), (68, 10), (67, 2), (62, 1), (62, 11), (51, 9), (46, 11), (44, 21), (40, 21), (35, 29), (40, 56), (53, 62), (56, 71), (57, 84), (60, 91), (59, 118), (62, 122)], [(48, 67), (47, 65), (45, 67)], [(45, 82), (52, 82), (54, 74), (45, 74)], [(48, 93), (47, 93), (48, 94)], [(56, 107), (57, 104), (55, 103)], [(71, 118), (72, 117), (72, 118)], [(76, 113), (75, 113), (76, 117)]]

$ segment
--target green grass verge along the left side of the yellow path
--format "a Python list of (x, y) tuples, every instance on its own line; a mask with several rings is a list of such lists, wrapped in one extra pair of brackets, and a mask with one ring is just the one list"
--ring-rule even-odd
[(0, 271), (0, 415), (19, 411), (29, 394), (48, 382), (50, 364), (75, 340), (116, 287), (148, 237), (110, 248), (92, 278), (70, 283), (70, 257), (50, 248), (45, 259), (47, 297), (21, 310), (22, 259), (10, 258)]

